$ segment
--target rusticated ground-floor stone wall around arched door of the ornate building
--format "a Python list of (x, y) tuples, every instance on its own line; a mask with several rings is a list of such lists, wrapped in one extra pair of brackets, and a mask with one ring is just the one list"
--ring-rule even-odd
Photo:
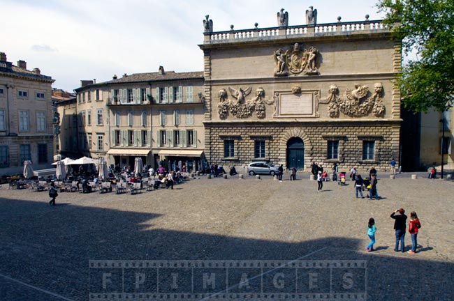
[[(300, 137), (305, 144), (305, 171), (312, 161), (330, 167), (334, 162), (339, 171), (357, 166), (360, 171), (375, 167), (389, 168), (391, 157), (399, 154), (399, 123), (205, 123), (205, 134), (211, 144), (205, 148), (210, 162), (248, 164), (254, 158), (254, 141), (265, 140), (265, 160), (273, 164), (287, 164), (287, 142)], [(235, 141), (235, 157), (224, 157), (224, 140)], [(339, 140), (338, 160), (328, 160), (328, 140)], [(363, 160), (363, 140), (374, 140), (374, 160)]]

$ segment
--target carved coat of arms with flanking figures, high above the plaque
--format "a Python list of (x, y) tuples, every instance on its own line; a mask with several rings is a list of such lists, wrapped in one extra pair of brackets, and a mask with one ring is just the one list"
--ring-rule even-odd
[(316, 61), (318, 58), (318, 49), (309, 47), (309, 49), (300, 49), (300, 45), (295, 43), (293, 49), (284, 52), (283, 49), (277, 49), (274, 52), (274, 61), (276, 69), (274, 76), (287, 76), (290, 72), (293, 75), (318, 75)]

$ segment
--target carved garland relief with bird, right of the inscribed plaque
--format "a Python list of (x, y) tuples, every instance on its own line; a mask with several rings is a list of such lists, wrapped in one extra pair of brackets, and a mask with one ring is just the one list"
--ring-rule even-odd
[[(355, 84), (353, 90), (345, 90), (345, 98), (340, 98), (339, 88), (336, 85), (331, 85), (329, 95), (326, 98), (328, 101), (328, 114), (331, 118), (339, 117), (339, 112), (346, 116), (361, 117), (367, 116), (371, 112), (376, 117), (383, 117), (385, 114), (385, 105), (383, 105), (383, 84), (374, 84), (374, 93), (370, 95), (368, 86)], [(367, 95), (370, 95), (367, 97)]]

